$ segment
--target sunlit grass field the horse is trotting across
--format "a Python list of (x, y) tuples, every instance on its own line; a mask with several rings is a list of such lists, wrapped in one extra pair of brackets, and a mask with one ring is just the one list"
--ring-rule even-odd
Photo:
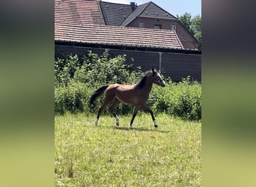
[(201, 123), (166, 114), (55, 116), (55, 186), (201, 186)]

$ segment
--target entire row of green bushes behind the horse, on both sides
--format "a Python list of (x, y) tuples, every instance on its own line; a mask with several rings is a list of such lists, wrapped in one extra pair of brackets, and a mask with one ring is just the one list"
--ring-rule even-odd
[[(107, 53), (97, 55), (88, 52), (83, 58), (70, 55), (55, 60), (55, 113), (96, 113), (103, 102), (100, 97), (95, 105), (88, 101), (91, 94), (102, 85), (114, 83), (135, 84), (143, 73), (139, 67), (125, 64), (124, 56), (109, 58)], [(166, 113), (186, 120), (201, 120), (201, 84), (189, 77), (174, 83), (165, 79), (167, 85), (153, 86), (147, 105), (154, 113)], [(132, 114), (132, 105), (120, 105), (117, 114)], [(105, 111), (106, 112), (106, 111)]]

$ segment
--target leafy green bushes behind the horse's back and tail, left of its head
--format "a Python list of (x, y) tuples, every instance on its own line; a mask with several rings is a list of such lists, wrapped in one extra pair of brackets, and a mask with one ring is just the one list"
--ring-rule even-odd
[[(67, 58), (55, 60), (55, 113), (64, 114), (66, 111), (95, 112), (103, 102), (89, 106), (91, 93), (102, 85), (114, 83), (133, 84), (142, 76), (139, 67), (125, 64), (124, 56), (109, 58), (107, 53), (97, 55), (91, 51), (83, 58), (69, 55)], [(121, 105), (119, 114), (128, 114), (132, 106)]]

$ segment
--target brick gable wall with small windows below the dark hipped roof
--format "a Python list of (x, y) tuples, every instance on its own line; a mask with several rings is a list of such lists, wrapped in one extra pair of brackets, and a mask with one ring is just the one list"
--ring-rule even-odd
[(156, 19), (147, 17), (137, 17), (127, 25), (128, 27), (137, 27), (138, 23), (144, 22), (144, 28), (154, 28), (154, 25), (162, 25), (162, 29), (171, 29), (171, 25), (176, 25), (176, 33), (184, 49), (198, 49), (198, 41), (184, 28), (177, 19)]

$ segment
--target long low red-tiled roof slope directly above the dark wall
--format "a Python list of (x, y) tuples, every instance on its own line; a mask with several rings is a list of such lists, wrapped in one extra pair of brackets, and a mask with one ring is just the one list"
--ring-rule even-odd
[(111, 46), (182, 49), (174, 31), (55, 22), (55, 40)]

